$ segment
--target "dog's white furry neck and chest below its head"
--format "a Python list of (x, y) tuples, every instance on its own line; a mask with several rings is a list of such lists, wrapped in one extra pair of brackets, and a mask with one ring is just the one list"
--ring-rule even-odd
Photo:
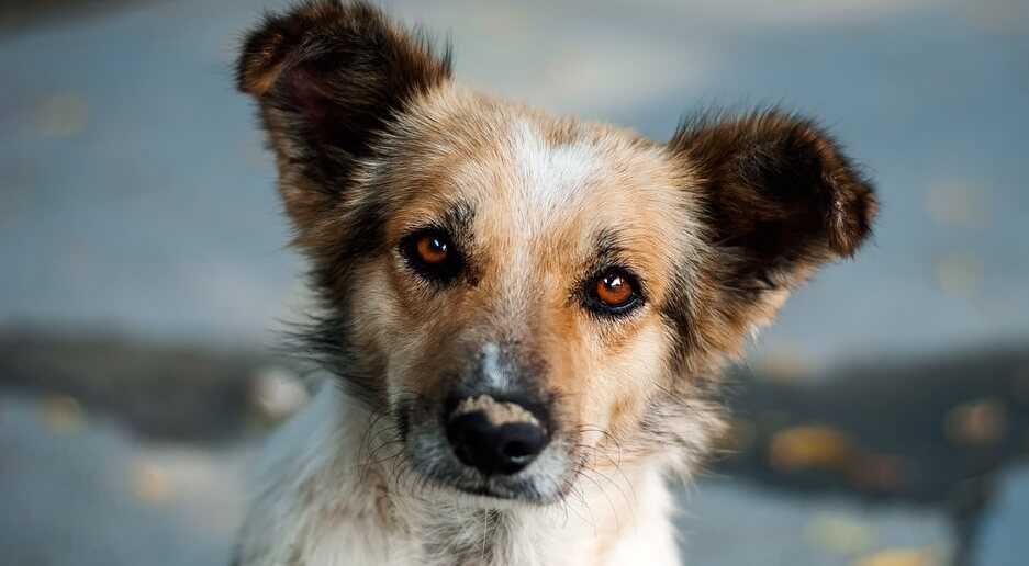
[(465, 497), (411, 473), (377, 417), (327, 384), (273, 440), (280, 457), (266, 466), (269, 477), (290, 486), (267, 486), (257, 505), (271, 513), (255, 516), (278, 517), (264, 528), (288, 525), (293, 542), (270, 554), (307, 566), (348, 556), (358, 558), (347, 564), (551, 566), (619, 564), (623, 547), (638, 562), (635, 548), (650, 547), (653, 561), (674, 561), (669, 496), (655, 469), (589, 469), (548, 506)]

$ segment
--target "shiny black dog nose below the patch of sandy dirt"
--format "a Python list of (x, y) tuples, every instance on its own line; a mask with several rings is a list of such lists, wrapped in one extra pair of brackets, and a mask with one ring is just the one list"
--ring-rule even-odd
[(519, 472), (547, 445), (539, 424), (518, 421), (496, 426), (482, 411), (450, 419), (447, 439), (458, 460), (486, 475)]

